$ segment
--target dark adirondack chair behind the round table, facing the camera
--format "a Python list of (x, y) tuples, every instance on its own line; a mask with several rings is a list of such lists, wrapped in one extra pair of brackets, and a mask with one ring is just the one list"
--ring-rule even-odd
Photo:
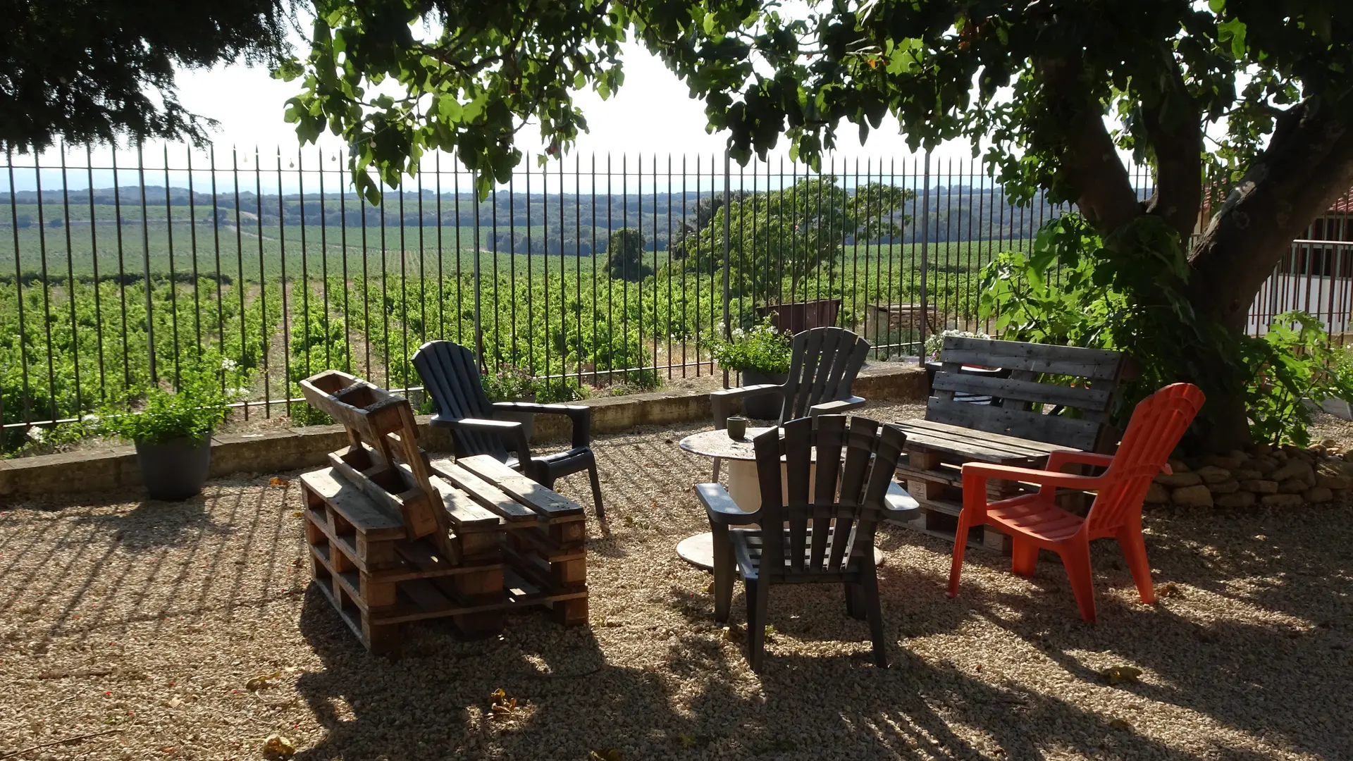
[[(779, 410), (779, 424), (796, 417), (817, 417), (855, 409), (865, 404), (863, 397), (851, 394), (851, 385), (865, 364), (869, 341), (844, 328), (813, 328), (794, 336), (789, 359), (789, 379), (785, 383), (758, 383), (723, 389), (709, 395), (709, 406), (714, 410), (714, 429), (728, 428), (733, 399), (758, 394), (779, 394), (783, 404)], [(714, 458), (714, 475), (718, 481), (720, 459)]]

